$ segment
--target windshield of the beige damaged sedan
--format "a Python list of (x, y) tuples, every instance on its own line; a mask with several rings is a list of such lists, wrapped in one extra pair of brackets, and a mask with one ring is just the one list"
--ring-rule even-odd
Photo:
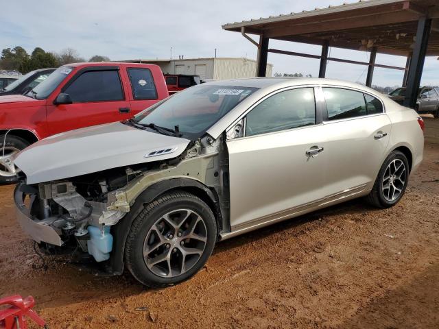
[(134, 121), (171, 130), (178, 125), (182, 136), (198, 138), (257, 89), (199, 84), (137, 114)]

